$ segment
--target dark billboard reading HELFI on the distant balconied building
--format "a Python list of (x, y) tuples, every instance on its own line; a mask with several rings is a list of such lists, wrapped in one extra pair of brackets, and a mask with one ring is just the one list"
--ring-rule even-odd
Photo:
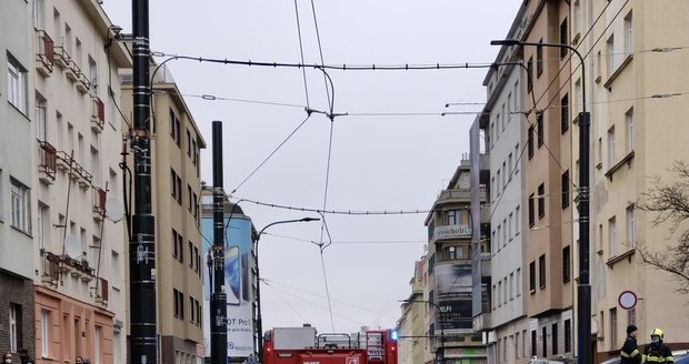
[(442, 330), (470, 332), (473, 327), (471, 264), (439, 264), (435, 275)]

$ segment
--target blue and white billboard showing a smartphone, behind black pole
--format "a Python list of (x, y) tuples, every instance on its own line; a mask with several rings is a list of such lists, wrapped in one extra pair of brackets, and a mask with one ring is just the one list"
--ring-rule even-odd
[[(229, 223), (228, 223), (229, 221)], [(228, 356), (248, 357), (253, 354), (253, 286), (251, 284), (252, 241), (251, 220), (243, 215), (224, 219), (224, 293), (227, 294)], [(213, 242), (213, 219), (201, 219), (206, 243)], [(203, 270), (203, 346), (210, 356), (210, 284), (209, 271)]]

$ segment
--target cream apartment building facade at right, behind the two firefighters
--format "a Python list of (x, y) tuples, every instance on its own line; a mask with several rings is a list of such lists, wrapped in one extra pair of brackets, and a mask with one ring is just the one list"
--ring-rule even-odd
[[(686, 296), (676, 292), (677, 282), (669, 273), (641, 263), (642, 251), (676, 246), (679, 234), (670, 233), (669, 223), (656, 223), (656, 213), (639, 209), (649, 202), (645, 193), (656, 178), (671, 181), (673, 163), (689, 154), (685, 142), (689, 104), (681, 94), (689, 84), (689, 54), (672, 50), (689, 41), (689, 23), (681, 17), (687, 11), (686, 1), (662, 7), (645, 1), (577, 1), (572, 10), (589, 14), (585, 26), (573, 24), (572, 33), (590, 30), (578, 47), (588, 54), (591, 311), (593, 353), (599, 360), (617, 355), (630, 323), (640, 328), (641, 343), (660, 327), (667, 343), (689, 347)], [(618, 303), (623, 291), (639, 297), (632, 310)]]

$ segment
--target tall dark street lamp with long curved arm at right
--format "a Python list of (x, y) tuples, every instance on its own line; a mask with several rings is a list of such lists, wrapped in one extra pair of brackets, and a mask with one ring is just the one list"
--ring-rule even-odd
[[(522, 42), (518, 39), (492, 40), (491, 46), (536, 46), (569, 49), (581, 63), (581, 112), (579, 113), (579, 282), (577, 284), (577, 315), (579, 335), (579, 351), (577, 363), (588, 363), (591, 358), (591, 284), (589, 281), (589, 132), (591, 120), (586, 112), (586, 73), (583, 57), (579, 51), (569, 44)], [(536, 107), (536, 105), (533, 105)]]

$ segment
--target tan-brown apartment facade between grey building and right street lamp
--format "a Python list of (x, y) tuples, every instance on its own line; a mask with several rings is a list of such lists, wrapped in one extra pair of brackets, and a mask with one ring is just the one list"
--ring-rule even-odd
[[(569, 43), (567, 1), (525, 1), (529, 43)], [(535, 105), (522, 128), (526, 136), (522, 212), (526, 242), (523, 285), (528, 356), (573, 355), (572, 120), (569, 112), (570, 52), (560, 47), (525, 46), (525, 104)]]

